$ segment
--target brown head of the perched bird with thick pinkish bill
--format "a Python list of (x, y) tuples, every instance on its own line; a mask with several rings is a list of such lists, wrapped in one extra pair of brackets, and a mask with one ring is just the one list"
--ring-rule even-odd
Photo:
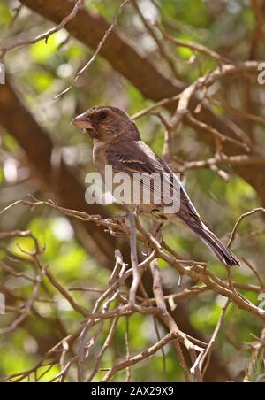
[(85, 129), (95, 142), (111, 142), (124, 136), (127, 140), (140, 140), (133, 119), (117, 107), (92, 107), (73, 119), (72, 124)]

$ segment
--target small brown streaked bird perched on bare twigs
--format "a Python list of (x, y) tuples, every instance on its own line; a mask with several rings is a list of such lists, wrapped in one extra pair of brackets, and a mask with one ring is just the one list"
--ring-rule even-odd
[[(239, 258), (201, 219), (170, 166), (141, 141), (138, 127), (126, 112), (113, 106), (94, 106), (73, 119), (72, 125), (82, 128), (92, 139), (94, 164), (102, 175), (106, 165), (110, 165), (115, 173), (126, 173), (131, 180), (134, 173), (165, 173), (170, 175), (170, 182), (177, 180), (180, 197), (178, 212), (165, 213), (163, 204), (138, 204), (141, 211), (162, 222), (178, 223), (180, 220), (201, 238), (223, 265), (240, 265)], [(151, 190), (155, 192), (157, 188), (153, 185)]]

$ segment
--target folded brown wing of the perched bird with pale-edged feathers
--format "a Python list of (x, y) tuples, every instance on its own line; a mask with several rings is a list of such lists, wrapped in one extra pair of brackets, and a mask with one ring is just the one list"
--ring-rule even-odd
[[(133, 173), (164, 173), (164, 179), (168, 179), (169, 187), (173, 190), (173, 193), (178, 188), (175, 191), (176, 196), (180, 197), (178, 217), (184, 221), (193, 219), (197, 223), (201, 223), (200, 216), (178, 180), (178, 176), (144, 142), (113, 143), (107, 150), (107, 161), (109, 165), (112, 165), (115, 172), (128, 173), (131, 177), (133, 177)], [(159, 193), (156, 191), (160, 190), (161, 196), (161, 188), (151, 185), (151, 189), (157, 196), (159, 196)], [(170, 196), (172, 196), (172, 193), (170, 193)]]

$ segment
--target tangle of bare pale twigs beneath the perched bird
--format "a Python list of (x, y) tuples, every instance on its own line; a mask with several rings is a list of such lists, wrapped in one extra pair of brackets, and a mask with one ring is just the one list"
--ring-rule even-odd
[[(102, 220), (98, 216), (89, 216), (83, 212), (76, 212), (72, 210), (63, 209), (54, 204), (53, 202), (39, 202), (38, 200), (32, 198), (29, 202), (16, 202), (15, 204), (11, 204), (11, 206), (4, 209), (3, 212), (9, 212), (11, 207), (15, 207), (17, 204), (25, 204), (31, 208), (45, 205), (51, 207), (58, 212), (63, 212), (65, 215), (71, 216), (73, 219), (81, 219), (84, 221), (93, 221), (96, 224), (102, 224), (104, 227), (111, 227), (111, 229), (117, 228), (117, 221), (108, 219)], [(263, 209), (255, 209), (253, 212), (249, 212), (243, 214), (239, 221), (237, 222), (235, 228), (233, 229), (232, 238), (236, 235), (237, 229), (239, 228), (239, 224), (242, 219), (246, 218), (246, 216), (253, 215), (255, 212), (264, 212)], [(170, 301), (170, 299), (187, 299), (191, 296), (199, 295), (200, 293), (205, 292), (206, 290), (211, 290), (216, 294), (220, 294), (227, 298), (227, 306), (230, 303), (237, 304), (240, 309), (245, 310), (246, 312), (250, 312), (252, 315), (259, 317), (262, 320), (265, 320), (265, 312), (261, 310), (261, 308), (256, 307), (250, 301), (246, 299), (246, 297), (241, 296), (241, 294), (236, 290), (236, 288), (242, 288), (246, 290), (252, 290), (254, 293), (260, 293), (262, 287), (255, 287), (254, 285), (249, 284), (240, 284), (238, 282), (232, 281), (232, 277), (229, 277), (229, 281), (223, 281), (218, 278), (214, 273), (208, 271), (207, 265), (205, 263), (196, 263), (193, 260), (180, 260), (178, 254), (170, 249), (166, 243), (160, 243), (160, 237), (156, 237), (151, 235), (144, 227), (140, 224), (140, 219), (134, 213), (130, 214), (130, 222), (131, 228), (129, 231), (126, 227), (120, 227), (119, 229), (125, 231), (131, 237), (131, 253), (132, 253), (132, 267), (130, 268), (123, 261), (122, 254), (119, 250), (116, 251), (116, 263), (114, 266), (114, 271), (110, 276), (110, 281), (108, 284), (108, 288), (105, 290), (100, 290), (100, 297), (97, 299), (95, 306), (92, 312), (87, 312), (83, 309), (79, 304), (77, 304), (72, 296), (69, 295), (67, 290), (57, 281), (57, 279), (50, 273), (50, 271), (45, 268), (43, 269), (40, 257), (42, 255), (43, 249), (39, 245), (37, 239), (34, 235), (29, 231), (12, 231), (12, 232), (1, 232), (1, 239), (8, 240), (11, 237), (16, 235), (20, 237), (30, 237), (35, 244), (35, 250), (31, 253), (27, 252), (27, 255), (32, 258), (30, 262), (36, 263), (35, 267), (38, 269), (38, 273), (44, 273), (46, 277), (49, 279), (49, 282), (53, 285), (53, 287), (60, 293), (64, 298), (72, 305), (72, 308), (79, 312), (82, 316), (86, 317), (86, 321), (82, 322), (81, 327), (73, 332), (71, 335), (67, 335), (62, 339), (57, 345), (49, 350), (45, 357), (35, 366), (33, 370), (27, 371), (25, 373), (20, 373), (18, 375), (12, 375), (7, 380), (18, 380), (21, 381), (25, 379), (25, 376), (30, 376), (30, 374), (37, 373), (38, 369), (45, 365), (45, 359), (52, 357), (52, 365), (60, 365), (60, 373), (57, 373), (55, 377), (51, 379), (51, 381), (64, 381), (68, 376), (72, 365), (75, 363), (78, 364), (79, 371), (79, 381), (84, 381), (84, 374), (86, 373), (85, 360), (90, 356), (92, 349), (95, 346), (95, 342), (97, 341), (99, 335), (102, 334), (103, 322), (107, 319), (111, 320), (110, 323), (110, 333), (107, 335), (107, 338), (102, 346), (101, 351), (99, 352), (99, 356), (97, 358), (97, 362), (94, 365), (94, 368), (91, 372), (89, 372), (89, 376), (87, 378), (88, 381), (91, 381), (95, 376), (95, 373), (99, 371), (100, 361), (105, 353), (105, 351), (110, 347), (110, 342), (115, 334), (117, 321), (118, 319), (125, 316), (128, 319), (134, 312), (140, 312), (143, 315), (151, 315), (154, 319), (159, 318), (163, 321), (165, 327), (168, 328), (169, 334), (166, 335), (163, 339), (160, 338), (157, 327), (155, 328), (156, 334), (158, 332), (158, 339), (154, 345), (150, 346), (148, 350), (144, 350), (137, 356), (132, 357), (129, 353), (129, 339), (128, 332), (126, 335), (126, 360), (120, 364), (112, 366), (108, 369), (103, 381), (109, 381), (110, 378), (121, 370), (127, 371), (127, 379), (129, 377), (128, 369), (135, 364), (140, 363), (143, 359), (146, 359), (153, 354), (155, 354), (158, 350), (163, 350), (163, 347), (172, 342), (177, 354), (178, 361), (182, 366), (183, 373), (185, 374), (186, 381), (203, 381), (203, 372), (205, 373), (205, 368), (208, 365), (208, 359), (210, 357), (210, 353), (212, 351), (213, 345), (216, 342), (216, 337), (220, 332), (220, 329), (223, 325), (223, 318), (225, 310), (223, 310), (222, 315), (220, 316), (219, 322), (216, 326), (215, 332), (212, 336), (211, 341), (206, 345), (204, 342), (199, 341), (196, 338), (191, 337), (190, 335), (186, 335), (184, 332), (180, 331), (176, 321), (172, 319), (170, 313), (167, 310), (166, 302)], [(111, 232), (111, 229), (109, 231)], [(140, 236), (138, 236), (137, 231), (140, 232)], [(144, 259), (143, 262), (139, 264), (137, 258), (137, 250), (136, 250), (136, 242), (137, 238), (140, 237), (143, 242), (147, 243), (148, 246), (148, 256)], [(21, 249), (23, 250), (23, 249)], [(165, 252), (166, 250), (166, 252)], [(24, 250), (23, 250), (24, 251)], [(162, 277), (159, 272), (158, 265), (155, 261), (156, 258), (161, 258), (168, 265), (176, 268), (178, 273), (182, 276), (187, 276), (191, 280), (196, 282), (203, 283), (202, 286), (196, 286), (190, 289), (184, 289), (182, 292), (177, 293), (175, 295), (164, 296), (163, 295), (163, 285), (162, 285)], [(154, 281), (154, 298), (148, 298), (145, 293), (144, 288), (141, 285), (140, 277), (143, 270), (151, 265), (151, 272), (153, 275)], [(251, 265), (252, 266), (252, 265)], [(251, 268), (253, 271), (254, 267)], [(8, 266), (5, 268), (7, 273), (13, 274), (13, 276), (21, 276), (23, 278), (27, 278), (27, 274), (21, 273), (17, 274), (13, 271), (13, 269)], [(122, 290), (122, 286), (125, 281), (127, 281), (130, 277), (133, 276), (133, 285), (131, 285), (131, 289), (129, 290), (128, 296), (125, 295), (124, 289)], [(257, 276), (257, 275), (256, 275)], [(258, 278), (258, 276), (257, 276)], [(42, 281), (42, 280), (41, 280)], [(261, 283), (261, 279), (259, 279)], [(39, 283), (40, 285), (40, 283)], [(37, 291), (36, 285), (34, 285), (35, 290)], [(83, 289), (83, 288), (82, 288)], [(144, 294), (144, 297), (140, 297), (138, 294), (141, 290)], [(97, 290), (98, 291), (98, 290)], [(32, 296), (27, 303), (27, 311), (32, 308), (32, 304), (34, 301), (37, 301), (37, 295), (34, 291), (34, 296)], [(110, 305), (115, 304), (111, 309)], [(18, 307), (13, 307), (14, 312), (18, 312), (18, 318), (15, 319), (15, 322), (12, 327), (17, 327), (17, 324), (21, 321), (21, 316), (25, 319), (28, 315)], [(92, 331), (93, 333), (87, 339), (87, 335), (90, 333), (90, 329), (95, 327), (96, 329)], [(9, 327), (11, 329), (11, 327)], [(4, 331), (5, 333), (5, 331)], [(70, 351), (71, 343), (78, 341), (79, 350), (77, 354), (72, 354), (71, 358), (66, 358)], [(189, 361), (184, 357), (183, 350), (186, 349), (189, 356), (190, 362), (193, 365), (192, 372), (190, 372)], [(67, 359), (67, 361), (66, 361)], [(163, 358), (164, 365), (164, 358)], [(206, 365), (204, 371), (202, 372), (203, 365)], [(47, 365), (47, 368), (49, 365)], [(46, 370), (47, 370), (46, 368)], [(164, 368), (164, 367), (163, 367)], [(45, 370), (45, 371), (46, 371)], [(45, 373), (44, 371), (44, 373)], [(35, 380), (37, 381), (37, 377)]]

